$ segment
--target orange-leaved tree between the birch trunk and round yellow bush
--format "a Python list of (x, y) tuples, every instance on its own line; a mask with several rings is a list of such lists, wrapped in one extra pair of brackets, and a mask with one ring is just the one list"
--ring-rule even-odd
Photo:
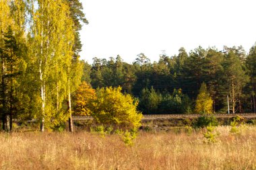
[(96, 99), (95, 90), (85, 81), (82, 82), (75, 95), (75, 114), (89, 116), (92, 112), (88, 108), (88, 102), (93, 99)]

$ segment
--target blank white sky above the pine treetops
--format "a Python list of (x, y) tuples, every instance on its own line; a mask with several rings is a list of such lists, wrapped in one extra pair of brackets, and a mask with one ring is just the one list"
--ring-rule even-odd
[(81, 0), (89, 21), (82, 28), (80, 56), (133, 62), (144, 53), (158, 61), (202, 46), (243, 46), (256, 42), (255, 0)]

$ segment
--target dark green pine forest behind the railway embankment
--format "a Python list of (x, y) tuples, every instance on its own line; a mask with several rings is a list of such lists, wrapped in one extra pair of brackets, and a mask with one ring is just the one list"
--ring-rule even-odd
[(141, 53), (128, 64), (121, 56), (108, 60), (93, 58), (92, 65), (84, 63), (82, 81), (92, 87), (118, 87), (139, 99), (143, 114), (184, 114), (194, 112), (199, 88), (204, 82), (213, 99), (213, 110), (255, 112), (256, 48), (249, 53), (242, 46), (223, 50), (203, 49), (187, 53), (161, 54), (158, 62)]

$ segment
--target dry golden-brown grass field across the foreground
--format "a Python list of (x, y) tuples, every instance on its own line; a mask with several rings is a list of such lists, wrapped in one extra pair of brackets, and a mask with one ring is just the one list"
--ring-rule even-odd
[(140, 132), (133, 146), (119, 135), (89, 132), (0, 134), (0, 169), (256, 169), (256, 127), (203, 132)]

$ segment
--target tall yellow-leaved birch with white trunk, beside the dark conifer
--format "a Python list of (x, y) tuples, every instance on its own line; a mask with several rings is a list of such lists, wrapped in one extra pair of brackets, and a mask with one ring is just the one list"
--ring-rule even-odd
[(34, 112), (34, 117), (40, 120), (40, 130), (44, 131), (45, 125), (51, 127), (64, 122), (70, 114), (67, 110), (64, 112), (63, 102), (70, 99), (71, 85), (74, 84), (71, 81), (73, 20), (67, 1), (30, 1), (28, 11), (31, 18), (28, 60), (36, 75), (34, 82), (40, 82), (36, 84), (40, 96), (36, 104), (41, 106)]

